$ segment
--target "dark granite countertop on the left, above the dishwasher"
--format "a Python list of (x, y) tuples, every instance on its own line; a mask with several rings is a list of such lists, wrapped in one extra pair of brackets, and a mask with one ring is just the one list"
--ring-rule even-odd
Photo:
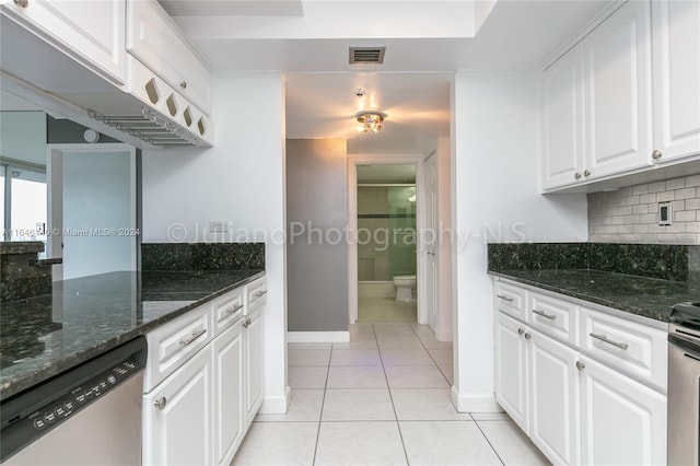
[(112, 272), (2, 303), (0, 399), (245, 284), (264, 270)]

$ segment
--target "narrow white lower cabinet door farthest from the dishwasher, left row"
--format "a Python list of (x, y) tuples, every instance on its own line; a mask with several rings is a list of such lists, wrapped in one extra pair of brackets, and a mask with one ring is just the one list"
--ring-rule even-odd
[(262, 404), (262, 311), (258, 306), (248, 315), (245, 329), (246, 427)]

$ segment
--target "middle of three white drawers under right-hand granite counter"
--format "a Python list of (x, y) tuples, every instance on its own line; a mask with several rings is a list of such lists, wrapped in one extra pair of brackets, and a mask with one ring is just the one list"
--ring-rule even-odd
[(557, 298), (530, 292), (528, 319), (533, 328), (575, 346), (578, 307)]

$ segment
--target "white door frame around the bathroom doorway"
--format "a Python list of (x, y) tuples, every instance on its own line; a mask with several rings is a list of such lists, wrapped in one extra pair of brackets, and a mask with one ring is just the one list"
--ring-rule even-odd
[(358, 172), (357, 166), (416, 165), (416, 278), (418, 294), (418, 323), (425, 324), (425, 254), (420, 232), (425, 230), (424, 154), (351, 154), (348, 155), (348, 323), (358, 322), (358, 245), (353, 232), (358, 231)]

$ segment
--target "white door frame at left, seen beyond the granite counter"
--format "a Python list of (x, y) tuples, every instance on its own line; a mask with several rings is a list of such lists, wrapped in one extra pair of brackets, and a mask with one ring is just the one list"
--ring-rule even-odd
[[(138, 171), (137, 171), (137, 149), (133, 145), (129, 145), (121, 142), (109, 143), (57, 143), (46, 145), (46, 183), (47, 188), (47, 229), (63, 230), (63, 152), (115, 152), (124, 151), (128, 152), (130, 156), (130, 172), (131, 184), (129, 191), (131, 194), (131, 225), (129, 228), (139, 228), (139, 206), (138, 206)], [(57, 183), (58, 182), (58, 183)], [(142, 232), (141, 232), (142, 233)], [(138, 266), (138, 249), (140, 246), (141, 235), (133, 236), (135, 240), (131, 244), (130, 263), (131, 269), (136, 270)], [(48, 235), (46, 238), (47, 257), (62, 258), (62, 235)], [(52, 267), (52, 280), (59, 281), (63, 279), (63, 265), (57, 264)]]

